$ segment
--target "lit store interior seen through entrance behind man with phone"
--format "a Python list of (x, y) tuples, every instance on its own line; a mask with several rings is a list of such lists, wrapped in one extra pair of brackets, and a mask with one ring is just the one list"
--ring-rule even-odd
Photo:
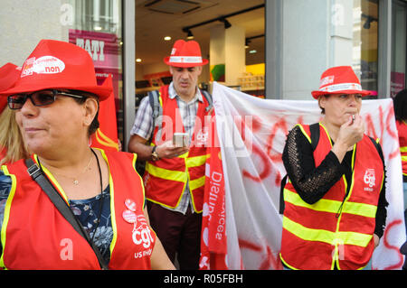
[(264, 98), (264, 1), (136, 1), (136, 106), (171, 82), (163, 59), (178, 39), (194, 40), (209, 65), (199, 86), (213, 81)]

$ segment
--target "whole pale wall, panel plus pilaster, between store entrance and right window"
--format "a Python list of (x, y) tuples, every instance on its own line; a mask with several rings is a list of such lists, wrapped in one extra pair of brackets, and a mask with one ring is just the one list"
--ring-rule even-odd
[(282, 34), (281, 67), (274, 70), (282, 73), (281, 98), (312, 99), (324, 70), (352, 64), (353, 0), (271, 1), (282, 5), (280, 30), (266, 27)]

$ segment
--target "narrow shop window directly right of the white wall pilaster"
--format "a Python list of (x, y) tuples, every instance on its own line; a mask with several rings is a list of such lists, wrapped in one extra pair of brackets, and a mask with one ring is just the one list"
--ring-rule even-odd
[(352, 66), (362, 88), (378, 98), (378, 22), (379, 0), (354, 0), (354, 43)]

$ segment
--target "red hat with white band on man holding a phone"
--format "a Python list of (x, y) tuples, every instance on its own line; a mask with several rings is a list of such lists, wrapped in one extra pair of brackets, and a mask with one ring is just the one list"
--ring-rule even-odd
[(177, 40), (174, 43), (171, 56), (164, 58), (166, 65), (175, 67), (194, 67), (208, 64), (207, 59), (202, 59), (201, 48), (198, 42)]

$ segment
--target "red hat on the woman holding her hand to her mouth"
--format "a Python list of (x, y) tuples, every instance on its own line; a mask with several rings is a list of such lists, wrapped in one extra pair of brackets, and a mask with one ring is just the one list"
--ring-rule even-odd
[(329, 68), (321, 75), (319, 88), (311, 92), (313, 98), (327, 94), (361, 94), (370, 95), (371, 92), (362, 89), (355, 71), (350, 66), (336, 66)]

